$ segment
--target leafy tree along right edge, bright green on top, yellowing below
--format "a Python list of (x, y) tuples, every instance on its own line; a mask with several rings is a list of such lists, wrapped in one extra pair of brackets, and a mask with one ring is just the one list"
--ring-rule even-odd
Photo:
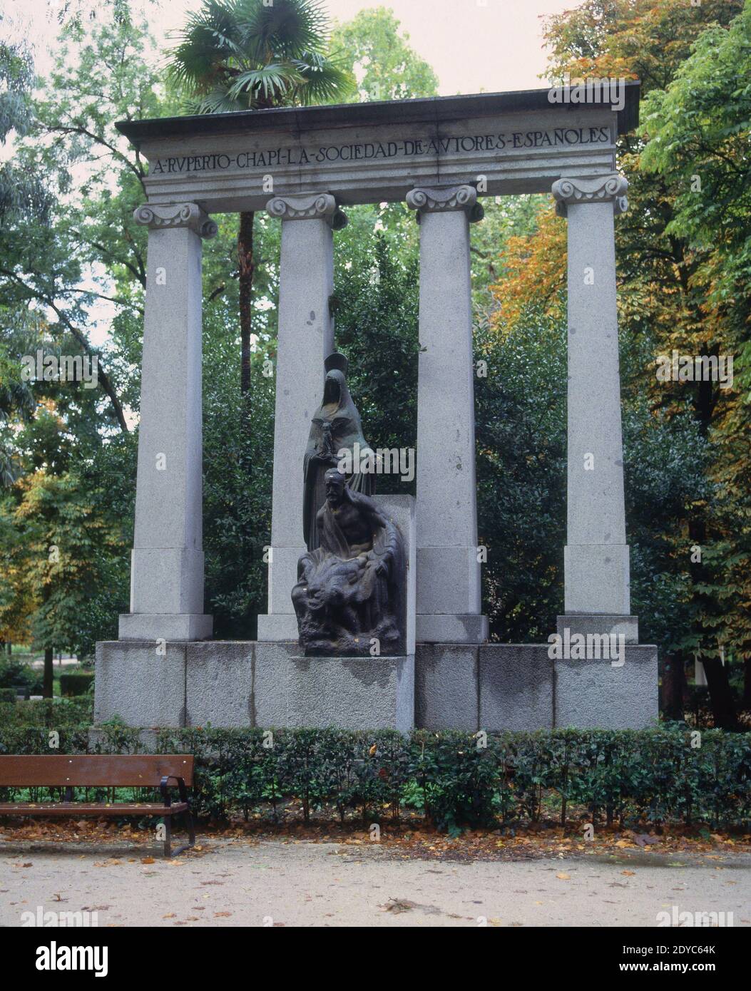
[[(739, 386), (712, 404), (718, 452), (712, 521), (718, 539), (697, 562), (701, 621), (728, 657), (745, 664), (751, 705), (751, 7), (728, 27), (711, 26), (673, 82), (645, 101), (649, 141), (641, 167), (676, 189), (666, 233), (689, 245), (694, 282), (714, 327), (715, 354), (735, 354)], [(715, 719), (732, 700), (716, 650), (703, 652)], [(719, 699), (718, 699), (719, 697)]]

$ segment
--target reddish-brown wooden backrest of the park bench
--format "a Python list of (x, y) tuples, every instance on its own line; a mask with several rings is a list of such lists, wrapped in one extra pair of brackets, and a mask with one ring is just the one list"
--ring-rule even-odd
[[(193, 783), (193, 755), (51, 754), (0, 756), (0, 787), (158, 788), (165, 775)], [(175, 782), (170, 781), (170, 785)]]

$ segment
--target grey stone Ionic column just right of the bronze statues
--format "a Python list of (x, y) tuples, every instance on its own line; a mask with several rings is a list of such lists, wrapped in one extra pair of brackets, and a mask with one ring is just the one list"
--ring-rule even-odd
[(486, 638), (478, 560), (470, 219), (472, 186), (418, 188), (417, 640)]

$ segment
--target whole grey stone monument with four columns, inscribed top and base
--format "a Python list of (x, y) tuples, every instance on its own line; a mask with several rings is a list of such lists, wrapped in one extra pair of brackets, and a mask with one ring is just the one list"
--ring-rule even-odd
[[(614, 218), (627, 206), (616, 138), (638, 123), (639, 84), (625, 86), (623, 102), (600, 95), (553, 103), (537, 89), (118, 125), (149, 161), (148, 203), (135, 215), (149, 251), (131, 608), (120, 638), (97, 646), (97, 719), (496, 730), (657, 718), (657, 650), (638, 643), (630, 605), (615, 299)], [(486, 642), (470, 232), (481, 196), (528, 192), (552, 193), (568, 224), (568, 532), (551, 637), (615, 637), (615, 661)], [(320, 375), (334, 352), (334, 233), (343, 207), (382, 201), (405, 201), (420, 224), (416, 501), (374, 495), (369, 479), (327, 478), (338, 445), (365, 443), (341, 359), (325, 383)], [(265, 209), (281, 224), (268, 611), (257, 641), (213, 641), (203, 603), (201, 243), (216, 233), (211, 213)], [(289, 451), (299, 452), (303, 512)], [(325, 532), (338, 499), (354, 514), (341, 537)], [(402, 538), (403, 572), (396, 545), (386, 551), (388, 523)], [(397, 647), (388, 631), (391, 617), (399, 626), (400, 573)], [(356, 629), (379, 629), (369, 640), (403, 652), (333, 653), (354, 649)]]

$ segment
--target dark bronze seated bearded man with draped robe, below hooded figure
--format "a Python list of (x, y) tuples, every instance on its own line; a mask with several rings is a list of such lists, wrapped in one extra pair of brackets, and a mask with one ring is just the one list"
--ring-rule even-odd
[(398, 654), (403, 650), (404, 544), (375, 501), (326, 472), (316, 513), (320, 546), (297, 565), (292, 589), (307, 655)]

